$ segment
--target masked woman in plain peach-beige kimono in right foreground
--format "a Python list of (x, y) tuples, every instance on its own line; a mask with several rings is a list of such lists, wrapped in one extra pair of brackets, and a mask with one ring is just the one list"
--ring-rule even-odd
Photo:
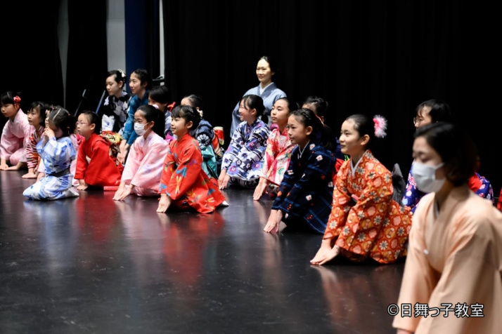
[(393, 326), (397, 333), (500, 333), (502, 214), (469, 190), (477, 152), (460, 128), (432, 123), (413, 143), (420, 201)]

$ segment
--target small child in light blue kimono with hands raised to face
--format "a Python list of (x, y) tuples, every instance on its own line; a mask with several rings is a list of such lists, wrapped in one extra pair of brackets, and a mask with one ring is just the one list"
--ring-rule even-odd
[(29, 199), (64, 199), (77, 197), (72, 189), (72, 161), (77, 158), (70, 135), (75, 133), (77, 119), (66, 109), (56, 107), (46, 118), (46, 130), (37, 144), (37, 152), (44, 161), (45, 176), (27, 188), (22, 195)]

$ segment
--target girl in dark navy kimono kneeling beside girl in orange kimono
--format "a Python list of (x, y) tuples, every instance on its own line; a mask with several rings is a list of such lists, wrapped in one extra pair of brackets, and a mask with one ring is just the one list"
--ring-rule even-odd
[(323, 123), (310, 109), (292, 112), (288, 135), (297, 145), (279, 186), (265, 232), (288, 226), (309, 227), (324, 233), (331, 212), (336, 159), (321, 144)]

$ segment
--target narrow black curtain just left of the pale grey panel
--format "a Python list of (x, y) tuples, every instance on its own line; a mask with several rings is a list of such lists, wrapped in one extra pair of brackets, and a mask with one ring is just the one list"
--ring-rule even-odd
[(107, 69), (106, 1), (68, 1), (66, 109), (96, 111), (105, 90)]

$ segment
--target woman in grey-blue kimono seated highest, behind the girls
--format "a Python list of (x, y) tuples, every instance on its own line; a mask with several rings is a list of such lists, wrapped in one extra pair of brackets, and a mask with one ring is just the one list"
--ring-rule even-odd
[[(273, 104), (280, 98), (285, 98), (286, 94), (277, 88), (276, 84), (272, 82), (273, 74), (276, 74), (277, 65), (272, 58), (264, 55), (259, 58), (258, 65), (256, 67), (256, 75), (259, 80), (259, 85), (255, 88), (251, 88), (244, 95), (258, 95), (263, 100), (263, 105), (265, 106), (265, 113), (267, 116), (273, 108)], [(268, 122), (266, 122), (268, 123)], [(240, 114), (239, 114), (239, 103), (233, 108), (232, 112), (232, 126), (230, 128), (230, 135), (233, 136), (233, 132), (240, 124)], [(269, 124), (270, 125), (270, 124)]]

